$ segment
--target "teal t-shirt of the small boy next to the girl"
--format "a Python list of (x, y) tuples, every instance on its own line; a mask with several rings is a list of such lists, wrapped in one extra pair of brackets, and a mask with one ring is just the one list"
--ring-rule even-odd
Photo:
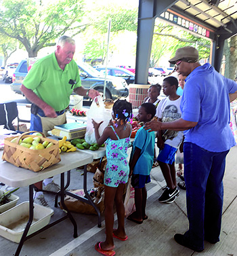
[(133, 169), (133, 173), (135, 175), (150, 175), (154, 158), (154, 143), (154, 132), (148, 132), (148, 130), (144, 130), (144, 127), (137, 130), (135, 139), (133, 141), (131, 158), (133, 157), (135, 147), (141, 149), (141, 155), (139, 156)]

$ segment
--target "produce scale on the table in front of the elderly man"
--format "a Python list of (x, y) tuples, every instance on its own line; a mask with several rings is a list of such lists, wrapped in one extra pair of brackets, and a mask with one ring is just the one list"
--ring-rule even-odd
[(48, 132), (50, 135), (63, 138), (66, 136), (67, 139), (83, 138), (85, 131), (87, 130), (87, 124), (79, 122), (73, 122), (69, 124), (61, 124), (60, 126), (54, 126), (54, 129)]

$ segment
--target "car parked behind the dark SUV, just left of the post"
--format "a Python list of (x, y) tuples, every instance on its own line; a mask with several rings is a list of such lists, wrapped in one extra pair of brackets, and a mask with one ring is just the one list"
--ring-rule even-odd
[[(98, 67), (96, 68), (102, 75), (106, 71), (105, 67)], [(108, 67), (107, 68), (107, 75), (112, 75), (114, 77), (122, 77), (127, 81), (127, 84), (134, 84), (135, 81), (135, 74), (127, 69), (123, 69), (121, 67)]]

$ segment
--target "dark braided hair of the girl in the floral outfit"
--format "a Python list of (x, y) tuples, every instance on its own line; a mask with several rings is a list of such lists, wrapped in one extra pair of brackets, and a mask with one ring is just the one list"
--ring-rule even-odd
[(112, 111), (116, 118), (120, 120), (129, 120), (133, 115), (131, 103), (127, 102), (127, 100), (116, 100)]

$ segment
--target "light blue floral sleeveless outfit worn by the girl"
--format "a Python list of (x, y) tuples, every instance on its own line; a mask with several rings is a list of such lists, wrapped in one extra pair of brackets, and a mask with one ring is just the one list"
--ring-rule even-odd
[[(110, 126), (116, 134), (114, 128)], [(127, 162), (127, 149), (130, 138), (114, 141), (110, 138), (106, 140), (107, 165), (104, 173), (104, 184), (109, 187), (118, 187), (120, 183), (127, 183), (129, 178), (129, 163)]]

